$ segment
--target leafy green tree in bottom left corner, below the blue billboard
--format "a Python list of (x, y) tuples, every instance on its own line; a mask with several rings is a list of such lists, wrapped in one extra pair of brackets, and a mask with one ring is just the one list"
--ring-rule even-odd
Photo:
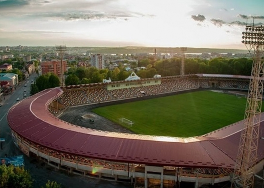
[(0, 187), (31, 188), (33, 179), (24, 167), (0, 166)]

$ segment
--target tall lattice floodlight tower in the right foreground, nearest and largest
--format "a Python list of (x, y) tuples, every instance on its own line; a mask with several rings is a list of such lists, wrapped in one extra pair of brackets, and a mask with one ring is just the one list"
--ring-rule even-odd
[(242, 34), (242, 43), (246, 45), (253, 59), (253, 65), (245, 110), (244, 129), (240, 137), (231, 187), (253, 188), (253, 167), (257, 160), (263, 92), (264, 27), (254, 25), (253, 21), (253, 25), (247, 25), (246, 31)]

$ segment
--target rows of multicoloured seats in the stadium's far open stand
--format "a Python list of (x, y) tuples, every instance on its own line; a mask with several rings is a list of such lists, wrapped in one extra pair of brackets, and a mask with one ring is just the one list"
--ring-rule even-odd
[[(137, 86), (120, 88), (107, 91), (105, 86), (88, 86), (83, 89), (64, 90), (63, 101), (65, 106), (75, 106), (87, 103), (98, 103), (117, 99), (127, 99), (156, 95), (165, 92), (175, 92), (198, 87), (210, 88), (211, 83), (216, 83), (219, 88), (248, 89), (249, 80), (221, 79), (221, 78), (198, 78), (198, 77), (171, 77), (161, 79), (159, 85)], [(56, 115), (57, 112), (49, 109)]]

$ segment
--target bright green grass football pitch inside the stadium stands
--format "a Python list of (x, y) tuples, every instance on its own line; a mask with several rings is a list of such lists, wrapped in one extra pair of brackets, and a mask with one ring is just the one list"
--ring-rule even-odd
[(244, 97), (198, 91), (92, 111), (123, 126), (118, 119), (127, 118), (134, 122), (129, 129), (138, 134), (192, 137), (242, 120), (245, 107)]

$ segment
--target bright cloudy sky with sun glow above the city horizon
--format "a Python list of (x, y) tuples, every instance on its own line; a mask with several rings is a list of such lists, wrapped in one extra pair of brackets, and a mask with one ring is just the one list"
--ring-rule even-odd
[[(0, 46), (245, 49), (263, 0), (0, 0)], [(264, 24), (263, 24), (264, 25)]]

